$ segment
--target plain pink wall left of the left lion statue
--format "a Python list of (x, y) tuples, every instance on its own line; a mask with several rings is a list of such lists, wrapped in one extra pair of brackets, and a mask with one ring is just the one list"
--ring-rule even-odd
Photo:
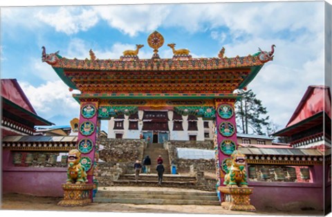
[(3, 193), (30, 194), (34, 196), (64, 196), (62, 184), (66, 182), (66, 168), (14, 167), (10, 151), (2, 152)]

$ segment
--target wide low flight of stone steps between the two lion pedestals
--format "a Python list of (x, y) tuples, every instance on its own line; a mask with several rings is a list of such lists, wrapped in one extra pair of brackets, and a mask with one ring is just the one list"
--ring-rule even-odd
[(102, 188), (93, 202), (130, 203), (135, 205), (216, 205), (220, 206), (215, 192), (168, 189), (158, 187)]

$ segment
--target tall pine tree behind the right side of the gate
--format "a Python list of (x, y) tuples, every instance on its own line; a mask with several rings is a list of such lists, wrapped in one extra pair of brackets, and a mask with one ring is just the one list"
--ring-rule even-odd
[(258, 135), (271, 133), (271, 124), (266, 107), (261, 104), (261, 100), (256, 98), (255, 93), (241, 91), (242, 97), (235, 104), (237, 114), (237, 128), (242, 133), (253, 132)]

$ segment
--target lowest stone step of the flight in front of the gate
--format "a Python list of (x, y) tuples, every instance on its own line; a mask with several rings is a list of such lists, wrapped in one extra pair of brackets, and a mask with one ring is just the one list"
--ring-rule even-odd
[(136, 205), (215, 205), (220, 206), (219, 201), (212, 200), (174, 200), (174, 199), (142, 199), (142, 198), (93, 198), (93, 202), (130, 203)]

